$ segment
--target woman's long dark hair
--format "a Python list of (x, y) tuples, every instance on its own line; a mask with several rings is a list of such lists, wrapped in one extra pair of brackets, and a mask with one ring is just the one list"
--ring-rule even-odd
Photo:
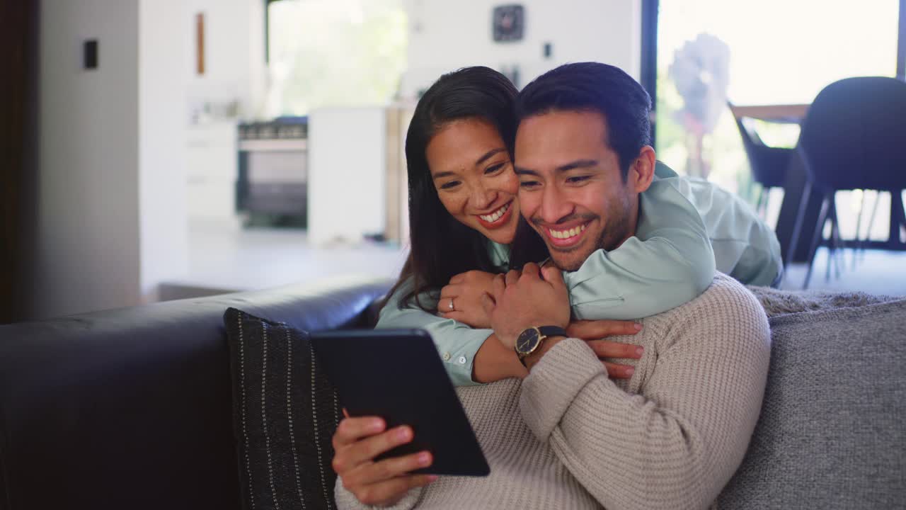
[(419, 99), (406, 133), (411, 249), (389, 294), (411, 278), (413, 285), (400, 299), (400, 308), (414, 302), (422, 309), (433, 309), (433, 302), (419, 301), (420, 293), (439, 290), (467, 270), (496, 270), (487, 254), (487, 238), (453, 218), (440, 203), (425, 152), (448, 123), (481, 119), (496, 127), (512, 154), (516, 93), (506, 76), (477, 66), (444, 74)]

